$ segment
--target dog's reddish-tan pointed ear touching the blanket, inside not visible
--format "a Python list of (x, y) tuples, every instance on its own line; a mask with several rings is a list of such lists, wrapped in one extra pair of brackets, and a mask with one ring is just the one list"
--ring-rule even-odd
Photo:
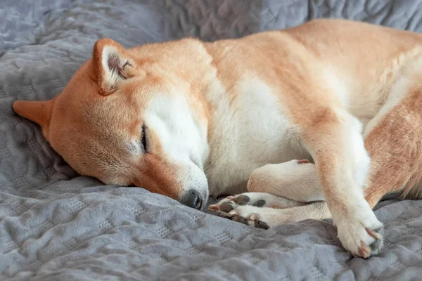
[(13, 103), (13, 110), (20, 115), (41, 126), (42, 133), (49, 139), (49, 125), (53, 112), (54, 98), (46, 101), (17, 100)]

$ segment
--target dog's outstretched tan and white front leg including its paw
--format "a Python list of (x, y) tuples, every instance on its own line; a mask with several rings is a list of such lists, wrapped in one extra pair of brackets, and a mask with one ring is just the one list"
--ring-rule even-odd
[(383, 224), (364, 198), (370, 159), (362, 126), (347, 112), (332, 113), (331, 119), (313, 124), (302, 139), (315, 161), (340, 242), (354, 256), (368, 258), (381, 249)]

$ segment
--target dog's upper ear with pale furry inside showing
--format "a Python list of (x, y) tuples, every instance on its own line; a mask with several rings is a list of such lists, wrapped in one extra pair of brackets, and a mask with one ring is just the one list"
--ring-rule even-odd
[(94, 75), (101, 96), (108, 96), (124, 79), (131, 77), (134, 62), (120, 44), (112, 39), (99, 39), (92, 53)]

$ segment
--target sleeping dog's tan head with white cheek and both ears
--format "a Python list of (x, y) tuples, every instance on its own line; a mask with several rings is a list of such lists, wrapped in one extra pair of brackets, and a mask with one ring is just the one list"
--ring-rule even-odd
[(39, 124), (79, 174), (202, 209), (208, 196), (208, 110), (191, 78), (200, 67), (177, 57), (183, 50), (200, 50), (200, 42), (124, 49), (100, 39), (60, 95), (16, 101), (13, 110)]

